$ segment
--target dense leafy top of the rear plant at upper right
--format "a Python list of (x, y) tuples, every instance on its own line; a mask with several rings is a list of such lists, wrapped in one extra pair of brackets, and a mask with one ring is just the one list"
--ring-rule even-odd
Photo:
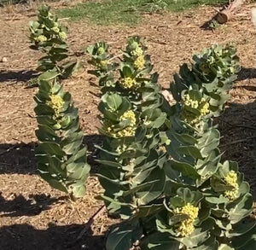
[[(228, 91), (236, 80), (236, 73), (240, 71), (236, 49), (227, 44), (212, 45), (204, 49), (200, 55), (193, 56), (194, 62), (189, 67), (183, 64), (178, 74), (174, 75), (171, 84), (172, 95), (177, 101), (177, 106), (184, 107), (185, 95), (196, 101), (207, 101), (209, 113), (207, 118), (218, 116), (224, 108), (224, 103), (230, 98)], [(201, 107), (189, 107), (186, 115), (200, 118)]]

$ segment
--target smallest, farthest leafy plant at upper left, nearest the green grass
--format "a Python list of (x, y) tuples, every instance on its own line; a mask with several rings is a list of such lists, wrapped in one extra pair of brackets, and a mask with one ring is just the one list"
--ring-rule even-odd
[(38, 9), (38, 20), (30, 21), (29, 26), (32, 43), (46, 54), (38, 61), (38, 71), (57, 72), (58, 77), (67, 78), (79, 69), (79, 61), (64, 61), (68, 57), (67, 27), (61, 26), (48, 5)]

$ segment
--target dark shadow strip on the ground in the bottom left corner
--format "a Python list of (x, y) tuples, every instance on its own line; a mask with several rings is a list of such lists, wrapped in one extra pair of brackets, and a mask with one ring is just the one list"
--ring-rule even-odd
[(84, 224), (69, 224), (59, 226), (49, 224), (47, 230), (38, 230), (29, 224), (14, 224), (2, 226), (0, 229), (1, 250), (102, 250), (104, 235), (92, 235), (87, 230), (77, 241), (78, 234), (84, 229)]

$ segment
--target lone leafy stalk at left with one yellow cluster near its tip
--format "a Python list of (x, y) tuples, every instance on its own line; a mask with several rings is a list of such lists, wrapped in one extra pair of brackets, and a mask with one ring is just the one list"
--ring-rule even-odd
[(71, 95), (55, 79), (42, 80), (34, 99), (39, 141), (36, 157), (41, 177), (71, 197), (84, 196), (90, 166), (82, 144), (84, 132), (79, 126), (78, 109), (73, 107)]

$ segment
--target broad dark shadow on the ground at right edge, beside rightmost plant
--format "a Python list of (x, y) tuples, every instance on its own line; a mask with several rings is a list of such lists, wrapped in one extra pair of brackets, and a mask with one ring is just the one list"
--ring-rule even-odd
[[(236, 86), (234, 86), (236, 89)], [(237, 86), (256, 91), (253, 86)], [(239, 92), (239, 90), (238, 90)], [(218, 125), (221, 140), (219, 148), (222, 160), (235, 160), (239, 171), (251, 185), (251, 193), (256, 199), (256, 101), (245, 105), (229, 103), (224, 113), (214, 120)]]

